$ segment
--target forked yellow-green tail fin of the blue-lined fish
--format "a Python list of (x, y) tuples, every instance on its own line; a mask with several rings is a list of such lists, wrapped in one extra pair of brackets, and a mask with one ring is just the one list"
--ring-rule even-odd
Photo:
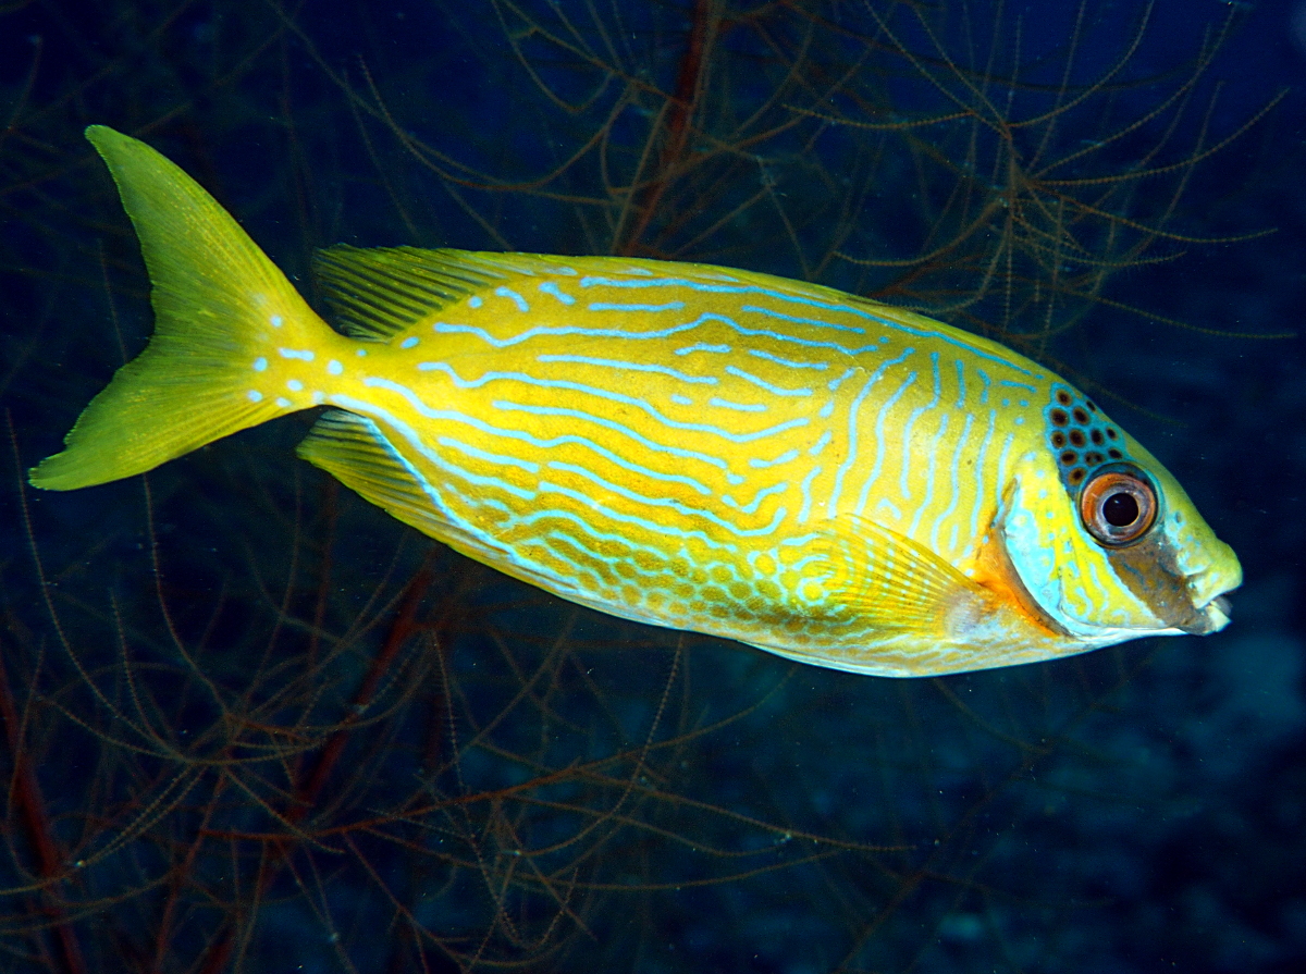
[[(222, 436), (294, 411), (249, 392), (268, 346), (336, 337), (285, 274), (178, 166), (104, 125), (86, 137), (132, 218), (153, 283), (154, 336), (30, 471), (68, 491), (151, 470)], [(260, 349), (263, 351), (260, 351)]]

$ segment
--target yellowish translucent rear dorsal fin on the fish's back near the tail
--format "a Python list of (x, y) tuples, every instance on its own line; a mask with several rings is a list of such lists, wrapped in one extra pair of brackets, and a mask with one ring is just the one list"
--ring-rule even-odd
[(504, 279), (502, 270), (468, 260), (471, 256), (464, 251), (336, 244), (317, 252), (313, 272), (345, 334), (384, 341)]

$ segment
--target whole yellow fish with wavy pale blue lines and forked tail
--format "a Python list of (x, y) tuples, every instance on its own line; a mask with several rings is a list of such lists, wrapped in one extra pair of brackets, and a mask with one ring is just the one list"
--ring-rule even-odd
[(68, 491), (321, 409), (298, 454), (571, 602), (835, 670), (934, 676), (1229, 623), (1238, 559), (1038, 363), (913, 311), (704, 264), (334, 245), (336, 328), (104, 125), (145, 350), (29, 471)]

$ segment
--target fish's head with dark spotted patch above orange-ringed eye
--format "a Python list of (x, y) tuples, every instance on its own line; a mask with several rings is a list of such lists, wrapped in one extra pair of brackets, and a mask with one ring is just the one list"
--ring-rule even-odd
[(1228, 625), (1242, 567), (1179, 482), (1071, 386), (1045, 419), (999, 513), (1029, 607), (1071, 652)]

